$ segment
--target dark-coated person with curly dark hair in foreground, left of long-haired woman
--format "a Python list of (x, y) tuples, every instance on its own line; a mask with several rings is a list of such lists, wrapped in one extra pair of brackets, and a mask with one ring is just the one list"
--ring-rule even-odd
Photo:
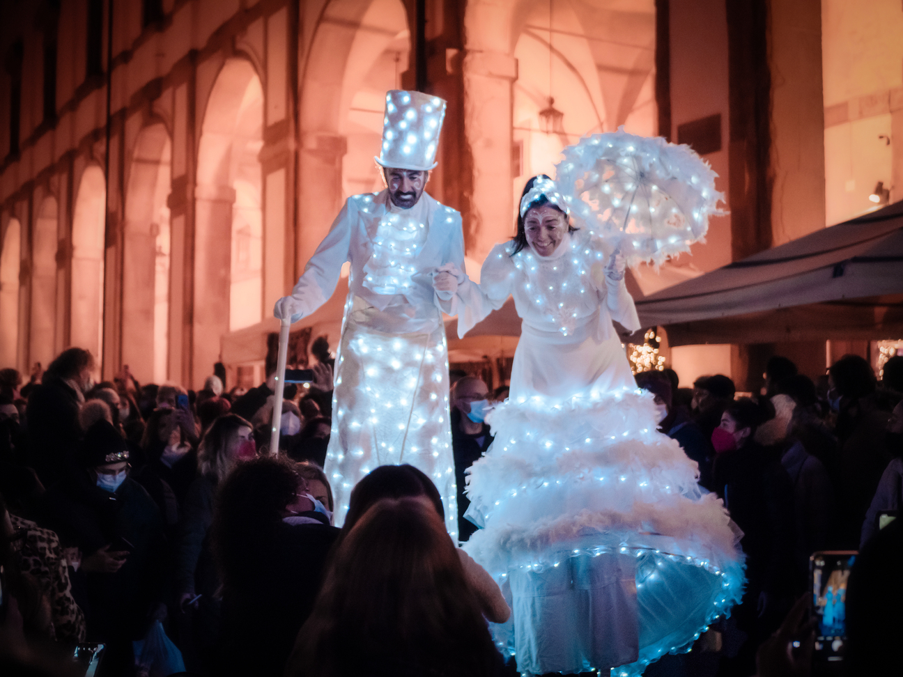
[(281, 677), (320, 592), (339, 529), (296, 516), (314, 504), (293, 466), (248, 461), (219, 491), (211, 529), (223, 580), (219, 675)]

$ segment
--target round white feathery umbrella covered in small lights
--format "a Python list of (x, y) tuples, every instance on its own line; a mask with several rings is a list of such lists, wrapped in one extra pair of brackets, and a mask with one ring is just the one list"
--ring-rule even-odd
[(592, 134), (563, 150), (555, 183), (577, 225), (620, 249), (628, 265), (661, 264), (702, 241), (717, 174), (687, 145), (660, 136)]

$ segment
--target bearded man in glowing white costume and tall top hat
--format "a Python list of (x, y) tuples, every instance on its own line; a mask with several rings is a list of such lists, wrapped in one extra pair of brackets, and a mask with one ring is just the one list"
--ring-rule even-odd
[[(332, 396), (326, 474), (344, 522), (351, 489), (373, 468), (409, 463), (435, 482), (446, 526), (458, 508), (448, 415), (448, 350), (437, 292), (463, 279), (461, 214), (424, 192), (445, 101), (415, 91), (386, 94), (379, 157), (386, 190), (354, 195), (317, 247), (277, 318), (297, 321), (335, 291), (351, 264)], [(453, 265), (452, 265), (453, 264)]]

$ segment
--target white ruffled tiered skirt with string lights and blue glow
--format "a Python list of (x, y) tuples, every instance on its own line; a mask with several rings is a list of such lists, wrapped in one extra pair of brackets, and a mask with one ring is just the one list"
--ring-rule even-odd
[(467, 490), (482, 528), (464, 548), (513, 611), (498, 645), (533, 674), (634, 675), (688, 650), (742, 594), (721, 500), (656, 431), (651, 395), (524, 399), (489, 415), (496, 439)]

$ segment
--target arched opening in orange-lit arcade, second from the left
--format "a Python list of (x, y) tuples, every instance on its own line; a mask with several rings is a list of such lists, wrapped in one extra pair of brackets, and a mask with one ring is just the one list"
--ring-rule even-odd
[(32, 303), (28, 361), (46, 368), (54, 353), (57, 287), (57, 201), (47, 196), (32, 233)]

